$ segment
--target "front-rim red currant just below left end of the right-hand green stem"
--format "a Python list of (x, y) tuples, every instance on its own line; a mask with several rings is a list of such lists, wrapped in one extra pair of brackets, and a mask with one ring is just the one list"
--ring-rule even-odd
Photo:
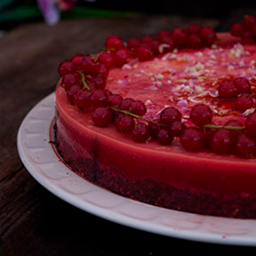
[(196, 127), (188, 127), (180, 135), (180, 143), (187, 151), (197, 152), (204, 147), (204, 135)]

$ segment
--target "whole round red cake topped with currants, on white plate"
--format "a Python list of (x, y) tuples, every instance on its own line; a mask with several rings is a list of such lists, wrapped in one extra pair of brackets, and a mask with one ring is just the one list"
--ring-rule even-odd
[[(154, 44), (147, 48), (156, 41), (151, 36), (137, 48), (136, 38), (119, 48), (120, 38), (110, 36), (112, 55), (77, 54), (61, 63), (55, 91), (58, 153), (76, 174), (124, 197), (255, 219), (256, 45), (230, 33), (212, 36), (207, 46), (202, 37), (194, 45), (189, 41), (193, 47), (170, 39), (159, 43), (166, 34), (158, 34), (157, 53)], [(114, 60), (107, 58), (113, 54)], [(101, 76), (92, 75), (98, 62), (104, 63)], [(249, 89), (241, 89), (243, 79)]]

